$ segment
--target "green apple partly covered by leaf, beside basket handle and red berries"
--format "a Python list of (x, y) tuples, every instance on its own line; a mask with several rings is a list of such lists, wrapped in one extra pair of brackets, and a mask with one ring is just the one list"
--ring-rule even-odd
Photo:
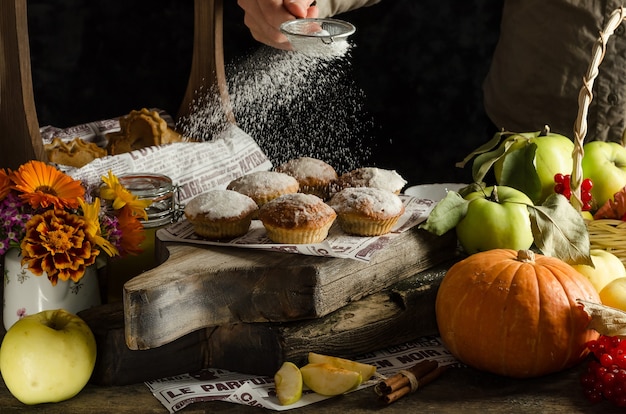
[(555, 174), (572, 173), (574, 143), (563, 135), (546, 131), (514, 134), (500, 146), (508, 148), (493, 165), (496, 183), (524, 192), (534, 204), (554, 193)]

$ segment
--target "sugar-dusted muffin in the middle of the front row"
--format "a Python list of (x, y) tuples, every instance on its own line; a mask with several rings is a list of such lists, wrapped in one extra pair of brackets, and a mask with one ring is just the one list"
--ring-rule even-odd
[(328, 236), (337, 214), (313, 194), (285, 194), (259, 209), (259, 220), (274, 243), (319, 243)]

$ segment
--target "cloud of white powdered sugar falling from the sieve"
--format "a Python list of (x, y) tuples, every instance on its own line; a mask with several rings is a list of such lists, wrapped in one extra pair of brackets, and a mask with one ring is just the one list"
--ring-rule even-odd
[[(226, 67), (227, 109), (275, 165), (308, 156), (348, 171), (371, 155), (373, 122), (350, 76), (349, 43), (323, 46), (334, 52), (263, 46)], [(210, 141), (221, 132), (226, 118), (219, 96), (216, 88), (197, 91), (190, 115), (179, 121), (185, 136)]]

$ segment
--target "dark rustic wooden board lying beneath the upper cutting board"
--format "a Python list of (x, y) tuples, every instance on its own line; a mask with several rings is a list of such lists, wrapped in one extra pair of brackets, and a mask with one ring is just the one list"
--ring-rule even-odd
[(283, 361), (302, 364), (309, 351), (351, 358), (436, 334), (435, 298), (451, 264), (446, 261), (322, 318), (199, 329), (147, 350), (126, 346), (120, 302), (91, 308), (79, 313), (98, 343), (91, 383), (127, 385), (208, 367), (273, 375)]

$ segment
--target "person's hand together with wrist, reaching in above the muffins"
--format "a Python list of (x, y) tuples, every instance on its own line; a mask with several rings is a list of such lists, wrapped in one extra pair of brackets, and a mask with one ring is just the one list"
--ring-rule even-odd
[(258, 42), (290, 50), (280, 25), (297, 18), (330, 17), (338, 13), (378, 3), (380, 0), (237, 0), (244, 12), (244, 23)]

